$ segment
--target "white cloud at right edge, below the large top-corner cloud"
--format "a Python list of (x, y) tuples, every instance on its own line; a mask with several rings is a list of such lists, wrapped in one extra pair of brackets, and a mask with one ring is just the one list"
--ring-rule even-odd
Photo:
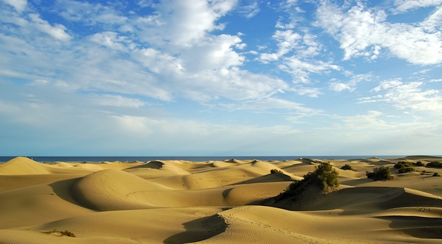
[(402, 82), (393, 79), (381, 82), (372, 92), (381, 93), (375, 97), (363, 97), (361, 102), (387, 102), (401, 110), (442, 111), (442, 95), (439, 90), (423, 90), (423, 82)]

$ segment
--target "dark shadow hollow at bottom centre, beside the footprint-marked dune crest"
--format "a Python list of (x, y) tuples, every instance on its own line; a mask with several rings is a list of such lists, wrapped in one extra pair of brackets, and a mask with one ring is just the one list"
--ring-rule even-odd
[(196, 220), (184, 223), (185, 232), (175, 234), (166, 238), (165, 244), (184, 244), (203, 241), (218, 234), (221, 234), (227, 229), (227, 223), (224, 218), (215, 214), (213, 216), (198, 218)]

